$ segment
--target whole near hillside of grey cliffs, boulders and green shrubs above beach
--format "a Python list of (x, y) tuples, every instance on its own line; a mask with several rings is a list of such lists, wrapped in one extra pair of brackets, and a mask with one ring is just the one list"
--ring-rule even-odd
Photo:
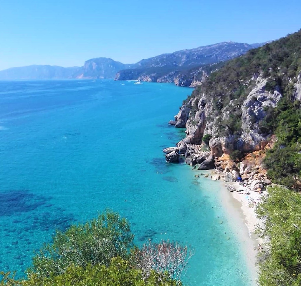
[[(254, 190), (270, 179), (301, 190), (300, 104), (301, 30), (252, 49), (206, 77), (170, 121), (185, 127), (186, 137), (167, 150), (171, 155), (166, 160), (177, 161), (185, 154), (187, 163), (216, 168), (229, 182), (239, 177), (248, 184), (257, 180)], [(242, 166), (252, 152), (265, 155), (260, 165), (265, 174), (255, 177), (233, 162), (221, 163), (230, 156)], [(249, 163), (249, 169), (256, 167)]]

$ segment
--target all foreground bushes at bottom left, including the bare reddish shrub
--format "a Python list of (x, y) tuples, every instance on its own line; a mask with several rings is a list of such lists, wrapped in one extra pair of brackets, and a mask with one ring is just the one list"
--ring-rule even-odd
[[(174, 242), (138, 248), (128, 221), (106, 211), (57, 231), (33, 258), (27, 278), (0, 272), (0, 286), (181, 286), (192, 250)], [(150, 263), (151, 262), (151, 263)]]

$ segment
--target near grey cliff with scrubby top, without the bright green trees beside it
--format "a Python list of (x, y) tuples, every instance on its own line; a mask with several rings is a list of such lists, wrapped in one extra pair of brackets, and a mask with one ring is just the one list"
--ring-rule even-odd
[[(203, 78), (170, 122), (186, 128), (186, 137), (178, 146), (198, 150), (186, 151), (188, 163), (213, 169), (215, 158), (230, 155), (239, 160), (247, 153), (265, 149), (275, 133), (275, 116), (283, 118), (279, 116), (291, 105), (284, 102), (295, 101), (291, 110), (299, 112), (300, 47), (301, 30), (251, 50)], [(281, 107), (276, 108), (280, 102)], [(206, 149), (209, 153), (201, 162), (200, 150)]]

